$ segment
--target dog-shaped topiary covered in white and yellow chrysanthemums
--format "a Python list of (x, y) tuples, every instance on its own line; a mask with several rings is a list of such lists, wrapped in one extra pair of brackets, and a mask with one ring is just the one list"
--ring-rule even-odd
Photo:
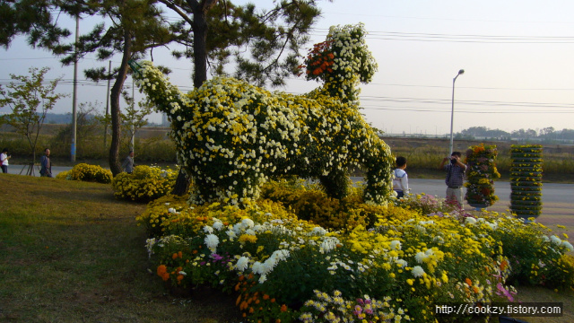
[(365, 199), (386, 201), (390, 150), (362, 118), (358, 83), (377, 65), (362, 25), (333, 27), (307, 59), (308, 79), (324, 85), (307, 95), (268, 92), (217, 77), (184, 94), (150, 62), (136, 77), (171, 119), (178, 161), (193, 180), (191, 202), (240, 204), (282, 175), (319, 179), (329, 196), (346, 196), (348, 170), (366, 170)]

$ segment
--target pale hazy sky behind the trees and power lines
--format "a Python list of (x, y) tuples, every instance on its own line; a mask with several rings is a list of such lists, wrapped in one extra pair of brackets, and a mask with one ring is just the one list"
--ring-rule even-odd
[[(455, 133), (469, 127), (508, 132), (574, 128), (572, 1), (334, 0), (318, 4), (323, 14), (308, 48), (325, 40), (332, 25), (362, 22), (369, 31), (367, 44), (378, 62), (378, 73), (370, 84), (361, 85), (361, 107), (367, 121), (387, 134), (445, 135), (450, 132), (451, 117)], [(59, 19), (74, 31), (72, 19)], [(81, 33), (90, 31), (95, 22), (82, 20)], [(172, 83), (186, 92), (191, 89), (191, 62), (170, 57), (167, 49), (154, 50), (153, 57), (173, 70)], [(114, 57), (112, 66), (119, 61)], [(0, 64), (0, 84), (10, 81), (9, 74), (50, 66), (48, 78), (63, 77), (57, 92), (73, 91), (73, 67), (60, 65), (47, 51), (29, 48), (23, 37), (8, 50), (0, 49)], [(92, 58), (80, 62), (78, 104), (98, 100), (105, 109), (107, 82), (91, 83), (82, 71), (108, 65)], [(453, 83), (460, 69), (465, 74)], [(131, 79), (126, 84), (131, 86)], [(293, 77), (278, 90), (304, 93), (318, 85)], [(0, 113), (6, 111), (0, 108)], [(71, 111), (71, 96), (53, 110)], [(154, 114), (151, 121), (159, 123), (161, 117)]]

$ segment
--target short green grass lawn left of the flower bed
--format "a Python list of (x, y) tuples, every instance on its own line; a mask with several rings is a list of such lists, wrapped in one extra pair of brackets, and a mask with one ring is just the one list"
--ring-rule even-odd
[[(0, 187), (0, 322), (242, 321), (233, 296), (166, 292), (135, 223), (145, 205), (117, 201), (109, 185), (1, 174)], [(574, 321), (574, 292), (518, 292), (567, 310), (526, 321)]]

